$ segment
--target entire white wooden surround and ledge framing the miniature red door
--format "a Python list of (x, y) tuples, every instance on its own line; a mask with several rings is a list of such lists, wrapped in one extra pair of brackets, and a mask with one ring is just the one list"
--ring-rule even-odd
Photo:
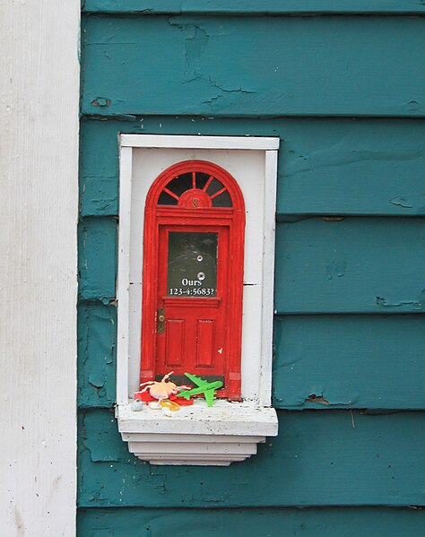
[[(158, 464), (226, 465), (277, 435), (271, 405), (274, 214), (278, 138), (121, 134), (117, 277), (117, 419), (134, 455)], [(246, 205), (242, 316), (242, 403), (195, 402), (177, 415), (132, 411), (141, 365), (143, 213), (162, 171), (208, 160), (235, 178)]]

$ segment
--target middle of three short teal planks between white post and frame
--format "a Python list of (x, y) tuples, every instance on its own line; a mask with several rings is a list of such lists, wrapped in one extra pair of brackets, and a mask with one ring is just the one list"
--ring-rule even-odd
[(117, 275), (117, 221), (85, 218), (79, 226), (80, 299), (115, 297)]

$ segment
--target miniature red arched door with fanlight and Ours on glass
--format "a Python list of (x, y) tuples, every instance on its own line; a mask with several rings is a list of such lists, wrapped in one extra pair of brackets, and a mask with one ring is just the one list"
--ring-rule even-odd
[(221, 380), (240, 398), (245, 208), (234, 178), (211, 162), (165, 170), (146, 199), (141, 382), (174, 371)]

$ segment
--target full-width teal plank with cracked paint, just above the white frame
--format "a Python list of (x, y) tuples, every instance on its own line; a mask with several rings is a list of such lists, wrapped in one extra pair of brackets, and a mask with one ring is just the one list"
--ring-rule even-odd
[(82, 35), (84, 114), (425, 115), (422, 17), (91, 16)]

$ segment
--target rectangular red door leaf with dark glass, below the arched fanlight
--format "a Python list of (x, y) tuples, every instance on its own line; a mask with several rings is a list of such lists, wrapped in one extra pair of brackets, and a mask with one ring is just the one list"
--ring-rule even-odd
[(159, 239), (157, 308), (163, 308), (165, 329), (157, 332), (155, 373), (224, 379), (229, 227), (164, 225)]

